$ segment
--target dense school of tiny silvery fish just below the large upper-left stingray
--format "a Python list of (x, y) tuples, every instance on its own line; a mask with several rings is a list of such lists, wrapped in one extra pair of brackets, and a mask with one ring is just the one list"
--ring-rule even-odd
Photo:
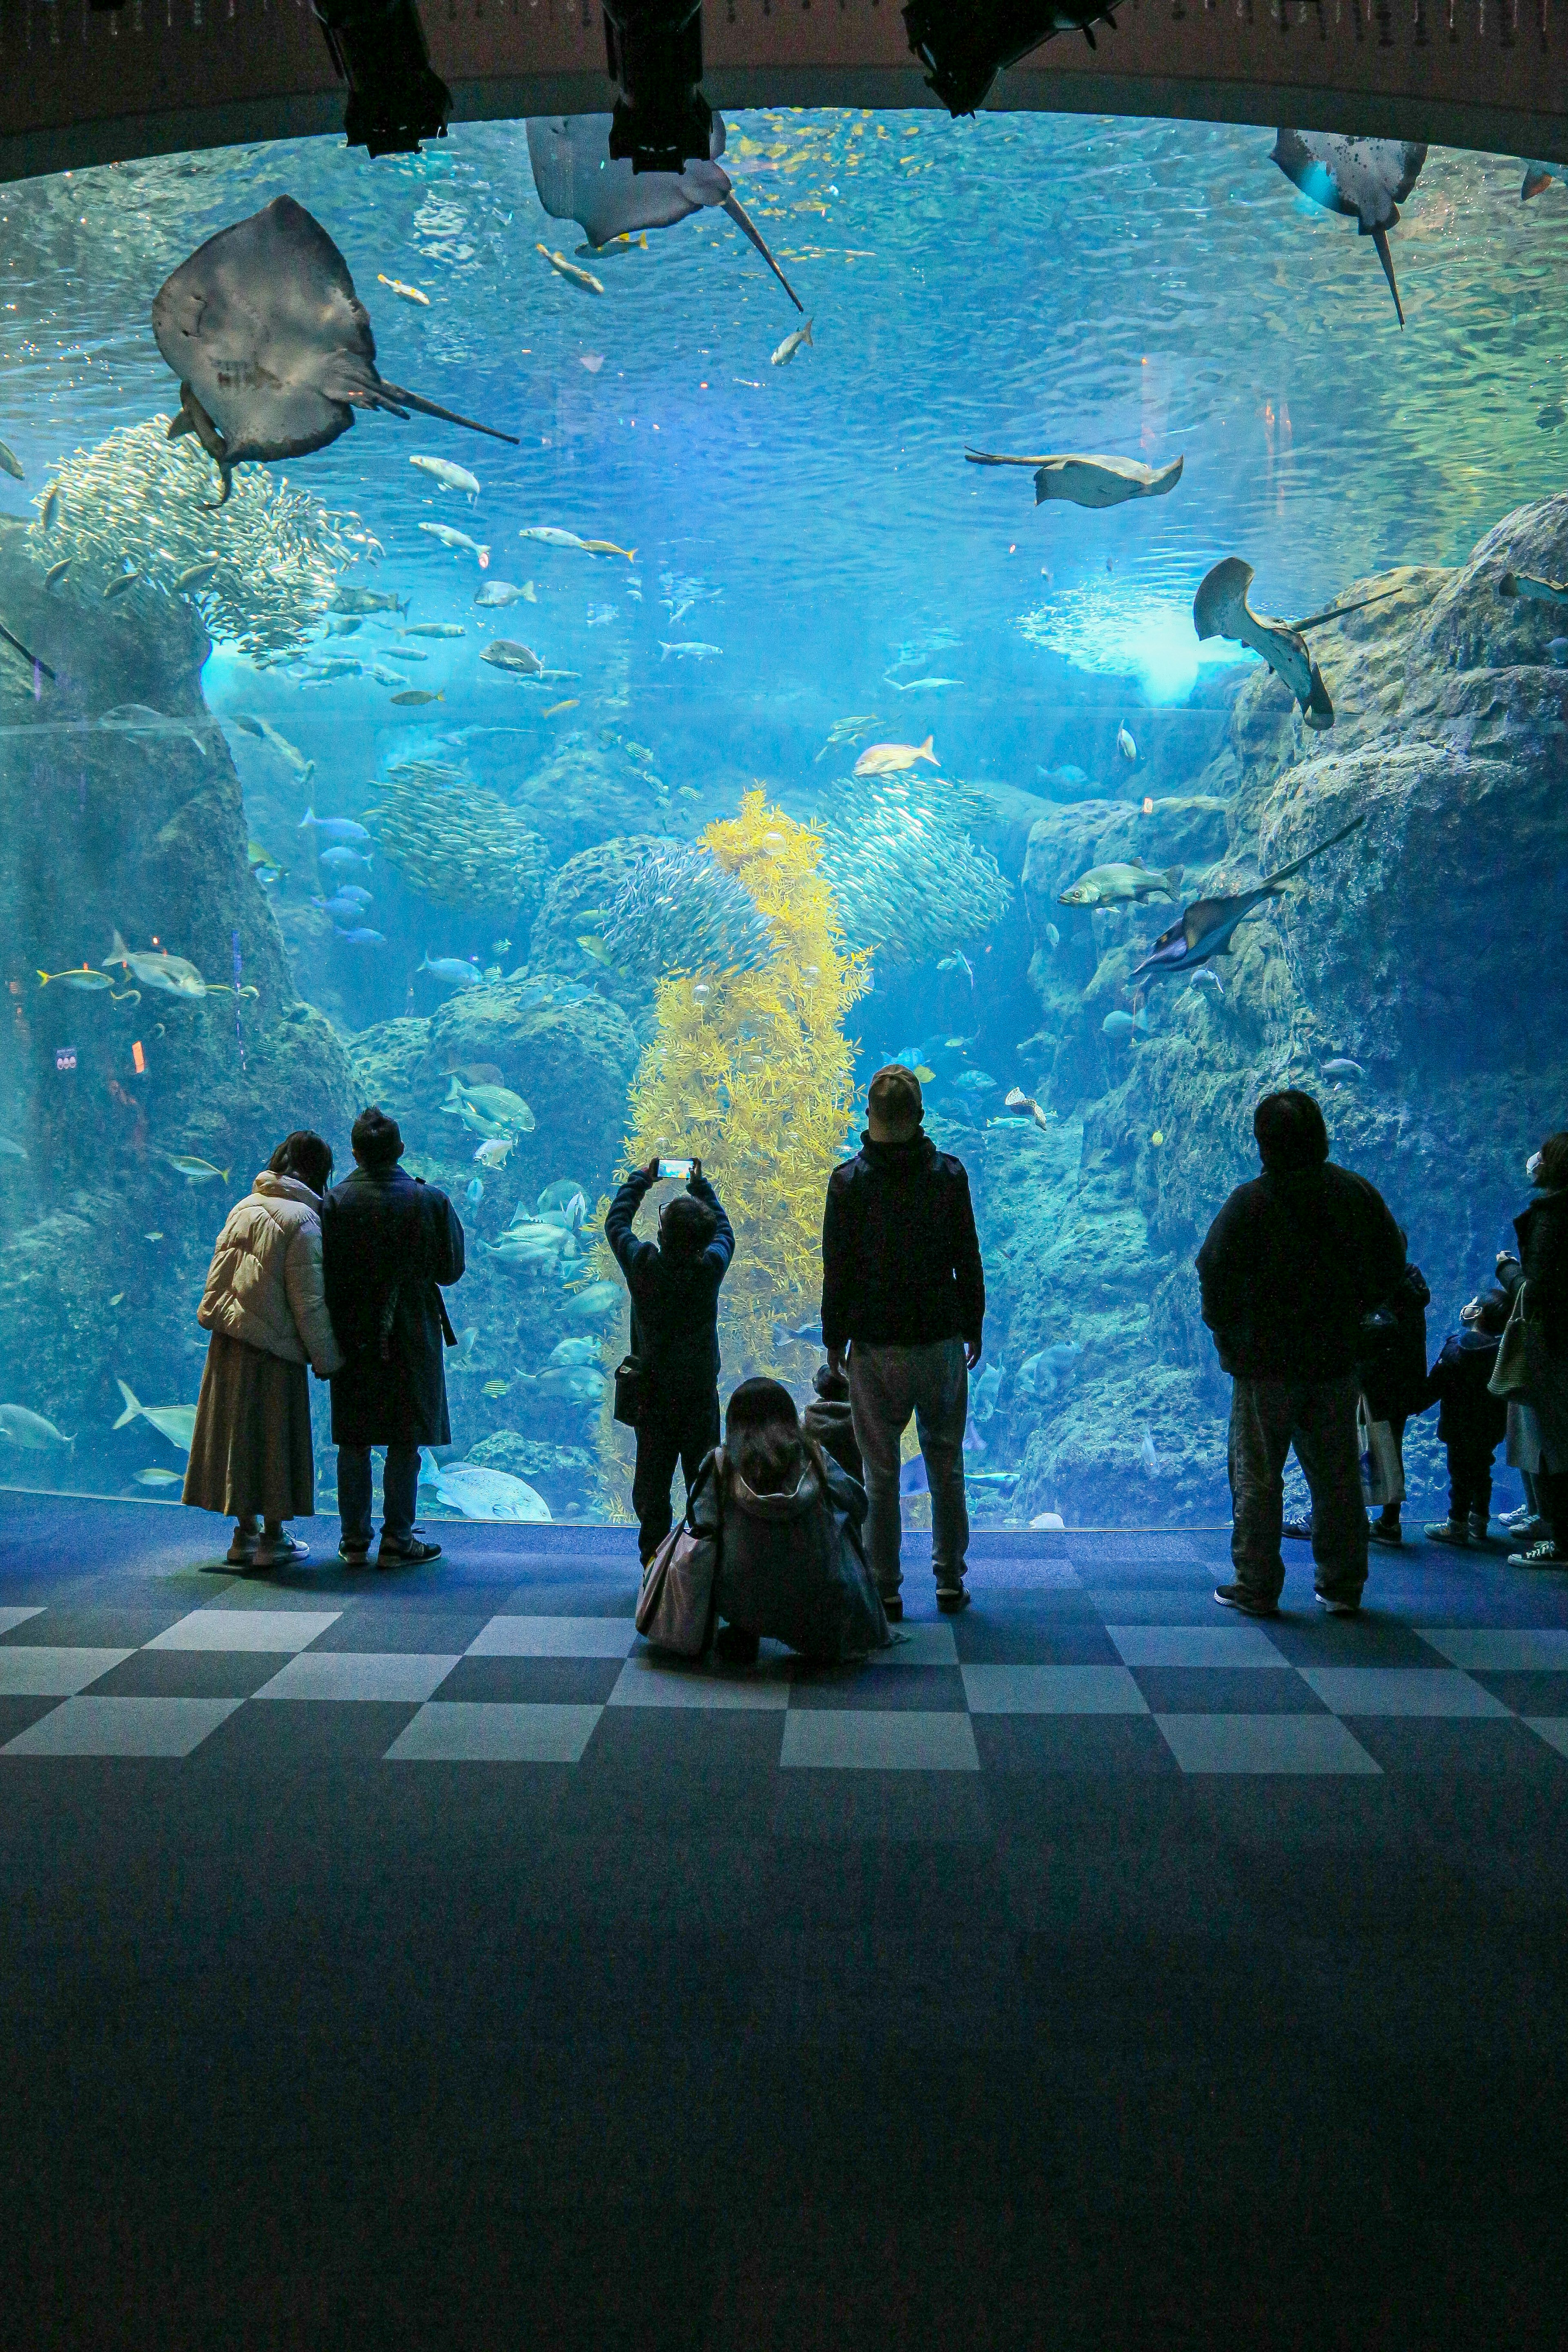
[(38, 560), (71, 557), (68, 590), (92, 597), (127, 572), (172, 595), (183, 574), (216, 560), (190, 590), (209, 630), (242, 654), (303, 647), (339, 574), (378, 555), (378, 541), (357, 515), (331, 513), (266, 466), (235, 475), (214, 513), (209, 459), (193, 440), (172, 442), (167, 426), (167, 416), (120, 426), (59, 466), (35, 499)]

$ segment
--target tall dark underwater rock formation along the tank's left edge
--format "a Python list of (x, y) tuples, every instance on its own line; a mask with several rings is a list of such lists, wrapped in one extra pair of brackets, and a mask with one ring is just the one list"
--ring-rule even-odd
[[(78, 1484), (120, 1484), (176, 1456), (146, 1423), (110, 1439), (115, 1381), (153, 1404), (195, 1399), (212, 1237), (292, 1127), (346, 1150), (350, 1073), (299, 1000), (247, 866), (240, 779), (200, 691), (197, 612), (49, 595), (31, 532), (0, 524), (0, 621), (56, 673), (38, 696), (7, 696), (0, 736), (0, 1134), (19, 1148), (0, 1157), (5, 1392), (80, 1432)], [(132, 706), (179, 724), (101, 724)], [(85, 981), (96, 969), (108, 983), (115, 929), (132, 953), (183, 957), (207, 990), (122, 967), (113, 990), (59, 978), (87, 964)], [(176, 1157), (212, 1174), (181, 1174)]]

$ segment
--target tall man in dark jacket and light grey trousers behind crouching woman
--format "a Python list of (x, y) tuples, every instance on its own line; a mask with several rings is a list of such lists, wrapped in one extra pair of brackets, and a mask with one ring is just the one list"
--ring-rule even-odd
[(964, 1428), (985, 1275), (964, 1162), (922, 1134), (924, 1108), (912, 1070), (877, 1070), (860, 1152), (832, 1171), (823, 1216), (823, 1345), (835, 1371), (849, 1350), (865, 1550), (891, 1618), (903, 1616), (898, 1444), (910, 1414), (931, 1486), (936, 1606), (947, 1616), (969, 1606)]

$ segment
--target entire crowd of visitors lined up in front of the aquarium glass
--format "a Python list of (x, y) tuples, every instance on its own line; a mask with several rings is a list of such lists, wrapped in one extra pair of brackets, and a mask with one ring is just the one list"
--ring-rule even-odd
[[(1427, 1367), (1425, 1275), (1366, 1176), (1335, 1167), (1319, 1103), (1269, 1094), (1253, 1115), (1260, 1174), (1237, 1185), (1197, 1256), (1201, 1315), (1232, 1378), (1232, 1581), (1215, 1599), (1274, 1616), (1286, 1536), (1312, 1543), (1319, 1602), (1354, 1616), (1368, 1543), (1401, 1545), (1403, 1435), (1439, 1406), (1448, 1517), (1425, 1534), (1488, 1545), (1493, 1458), (1521, 1472), (1505, 1522), (1512, 1566), (1568, 1566), (1568, 1131), (1528, 1162), (1516, 1251), (1462, 1310)], [(444, 1192), (402, 1169), (386, 1112), (355, 1120), (353, 1174), (287, 1136), (219, 1235), (200, 1322), (212, 1334), (186, 1501), (235, 1522), (228, 1564), (306, 1557), (287, 1522), (315, 1508), (306, 1367), (331, 1383), (339, 1552), (371, 1552), (371, 1446), (386, 1446), (376, 1566), (440, 1557), (414, 1524), (421, 1446), (451, 1442), (442, 1291), (463, 1275), (463, 1225)], [(778, 1381), (748, 1378), (719, 1414), (719, 1291), (733, 1228), (701, 1162), (665, 1200), (658, 1237), (637, 1211), (661, 1162), (616, 1192), (604, 1240), (630, 1291), (623, 1364), (637, 1432), (632, 1508), (644, 1578), (679, 1543), (708, 1545), (708, 1637), (745, 1663), (762, 1639), (811, 1658), (884, 1646), (903, 1616), (905, 1430), (931, 1491), (936, 1604), (969, 1604), (964, 1432), (980, 1362), (985, 1275), (964, 1164), (924, 1131), (912, 1070), (870, 1082), (867, 1127), (832, 1171), (823, 1214), (823, 1350), (804, 1416)], [(722, 1435), (719, 1435), (722, 1425)], [(1284, 1517), (1286, 1458), (1312, 1515)], [(672, 1479), (686, 1503), (675, 1526)], [(1371, 1517), (1368, 1517), (1371, 1508)], [(715, 1630), (717, 1628), (717, 1630)]]

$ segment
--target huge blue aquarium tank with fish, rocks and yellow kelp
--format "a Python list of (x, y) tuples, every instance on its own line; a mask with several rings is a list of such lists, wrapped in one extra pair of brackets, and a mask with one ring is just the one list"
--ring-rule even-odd
[[(468, 1232), (451, 1456), (623, 1519), (618, 1176), (701, 1155), (724, 1385), (804, 1397), (903, 1061), (985, 1251), (978, 1524), (1222, 1519), (1192, 1258), (1260, 1094), (1434, 1345), (1566, 1117), (1568, 195), (1432, 148), (1385, 275), (1274, 129), (743, 113), (764, 256), (590, 242), (571, 136), (0, 191), (0, 1479), (176, 1498), (228, 1207), (381, 1103)], [(275, 198), (510, 440), (360, 409), (221, 496), (150, 308)]]

